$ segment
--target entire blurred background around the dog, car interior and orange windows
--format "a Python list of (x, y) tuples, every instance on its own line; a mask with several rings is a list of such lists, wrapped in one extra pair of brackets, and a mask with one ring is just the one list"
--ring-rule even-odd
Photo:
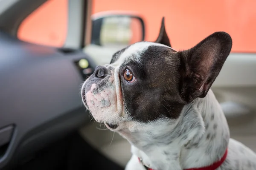
[(92, 119), (81, 84), (116, 51), (155, 41), (162, 17), (175, 50), (215, 31), (231, 35), (212, 91), (231, 137), (256, 151), (255, 8), (255, 0), (0, 0), (0, 169), (123, 169), (130, 144)]

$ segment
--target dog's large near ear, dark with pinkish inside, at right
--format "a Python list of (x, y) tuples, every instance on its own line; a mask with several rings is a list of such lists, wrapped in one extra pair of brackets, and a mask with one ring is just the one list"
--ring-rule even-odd
[(186, 102), (206, 96), (230, 54), (232, 39), (215, 32), (180, 56), (180, 95)]

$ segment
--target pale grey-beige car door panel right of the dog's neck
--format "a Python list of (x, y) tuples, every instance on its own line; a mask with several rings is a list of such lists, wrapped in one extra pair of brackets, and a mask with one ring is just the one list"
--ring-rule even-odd
[(230, 54), (212, 91), (232, 138), (256, 151), (256, 54)]

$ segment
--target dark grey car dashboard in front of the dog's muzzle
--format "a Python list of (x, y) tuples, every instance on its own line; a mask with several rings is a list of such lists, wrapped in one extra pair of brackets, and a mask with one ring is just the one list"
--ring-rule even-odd
[(89, 122), (80, 88), (95, 67), (83, 51), (0, 32), (0, 169)]

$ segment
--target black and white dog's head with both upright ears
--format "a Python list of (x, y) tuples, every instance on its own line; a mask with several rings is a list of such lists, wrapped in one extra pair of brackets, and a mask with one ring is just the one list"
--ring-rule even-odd
[(97, 122), (140, 131), (158, 119), (175, 120), (189, 102), (206, 96), (230, 53), (232, 40), (215, 32), (186, 51), (170, 47), (164, 19), (156, 42), (137, 42), (98, 66), (82, 98)]

